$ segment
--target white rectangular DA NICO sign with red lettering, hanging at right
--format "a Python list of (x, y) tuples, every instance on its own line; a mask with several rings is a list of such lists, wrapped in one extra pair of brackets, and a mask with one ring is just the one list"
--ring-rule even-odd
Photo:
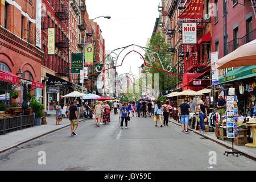
[(196, 23), (182, 23), (183, 44), (196, 44)]

